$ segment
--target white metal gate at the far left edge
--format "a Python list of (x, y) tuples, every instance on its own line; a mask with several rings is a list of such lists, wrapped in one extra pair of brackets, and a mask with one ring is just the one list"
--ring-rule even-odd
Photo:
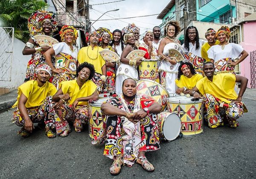
[(0, 27), (0, 81), (11, 81), (13, 39), (13, 27)]

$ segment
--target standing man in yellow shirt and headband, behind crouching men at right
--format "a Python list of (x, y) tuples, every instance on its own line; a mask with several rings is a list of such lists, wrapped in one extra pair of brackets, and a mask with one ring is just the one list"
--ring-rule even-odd
[(201, 55), (202, 58), (206, 59), (206, 61), (211, 61), (210, 58), (208, 58), (207, 51), (211, 48), (213, 45), (218, 45), (220, 42), (218, 40), (215, 40), (216, 31), (212, 28), (209, 28), (207, 32), (205, 33), (205, 38), (207, 39), (207, 43), (204, 43), (204, 45), (201, 48)]

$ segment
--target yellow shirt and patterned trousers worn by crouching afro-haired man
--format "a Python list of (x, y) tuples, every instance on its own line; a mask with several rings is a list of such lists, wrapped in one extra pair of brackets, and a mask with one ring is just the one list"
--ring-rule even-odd
[[(88, 122), (89, 119), (89, 109), (88, 102), (81, 101), (76, 105), (76, 111), (73, 112), (71, 109), (72, 104), (77, 98), (87, 97), (96, 91), (96, 85), (87, 80), (81, 89), (79, 89), (76, 80), (64, 81), (60, 84), (60, 88), (63, 94), (69, 94), (70, 100), (66, 104), (62, 104), (61, 108), (55, 110), (50, 107), (49, 113), (55, 118), (55, 127), (57, 134), (62, 133), (66, 129), (70, 129), (68, 122), (73, 122), (76, 132), (81, 132), (83, 129), (82, 124)], [(51, 103), (51, 98), (49, 98), (49, 103)]]

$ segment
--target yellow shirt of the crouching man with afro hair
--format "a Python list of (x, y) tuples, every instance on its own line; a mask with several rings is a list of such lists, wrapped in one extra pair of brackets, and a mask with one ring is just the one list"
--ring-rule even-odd
[[(63, 81), (61, 83), (61, 90), (63, 94), (69, 94), (70, 100), (68, 101), (69, 104), (73, 104), (73, 102), (77, 98), (83, 98), (88, 97), (95, 92), (97, 86), (92, 81), (87, 80), (84, 85), (79, 89), (78, 84), (76, 83), (76, 80), (70, 80), (70, 81)], [(77, 105), (88, 105), (87, 101), (80, 101)]]

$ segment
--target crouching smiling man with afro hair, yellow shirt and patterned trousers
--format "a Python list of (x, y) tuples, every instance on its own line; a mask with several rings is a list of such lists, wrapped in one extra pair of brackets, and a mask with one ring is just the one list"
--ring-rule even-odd
[[(56, 102), (51, 108), (55, 116), (57, 134), (66, 137), (70, 133), (68, 121), (72, 121), (76, 132), (81, 132), (82, 124), (89, 119), (88, 101), (99, 98), (96, 84), (90, 81), (95, 69), (92, 64), (84, 62), (76, 69), (76, 80), (64, 81), (52, 97)], [(57, 116), (58, 115), (58, 116)]]

